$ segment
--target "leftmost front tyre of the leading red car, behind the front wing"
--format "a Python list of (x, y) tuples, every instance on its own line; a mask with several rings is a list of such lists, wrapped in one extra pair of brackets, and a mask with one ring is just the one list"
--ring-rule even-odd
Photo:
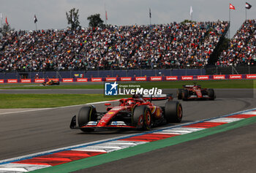
[[(78, 112), (78, 126), (82, 127), (85, 126), (86, 123), (89, 121), (97, 121), (97, 114), (96, 114), (96, 109), (89, 105), (89, 106), (84, 106), (81, 107), (81, 109)], [(94, 131), (93, 128), (80, 128), (81, 131)]]

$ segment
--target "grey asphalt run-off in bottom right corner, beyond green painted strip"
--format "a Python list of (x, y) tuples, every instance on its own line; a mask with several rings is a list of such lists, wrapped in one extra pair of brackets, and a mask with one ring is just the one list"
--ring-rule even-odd
[(255, 124), (153, 150), (82, 172), (255, 172)]

